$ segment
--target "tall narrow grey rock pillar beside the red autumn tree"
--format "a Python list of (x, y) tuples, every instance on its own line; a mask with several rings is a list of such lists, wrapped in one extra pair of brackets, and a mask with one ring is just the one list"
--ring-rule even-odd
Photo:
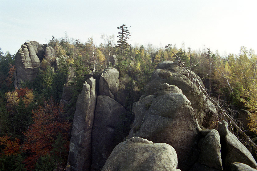
[(76, 103), (67, 168), (89, 170), (92, 160), (92, 127), (96, 106), (96, 80), (89, 78)]

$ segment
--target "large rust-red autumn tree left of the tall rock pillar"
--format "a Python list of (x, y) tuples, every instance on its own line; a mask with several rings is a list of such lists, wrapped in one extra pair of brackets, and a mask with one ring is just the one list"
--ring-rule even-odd
[(52, 99), (32, 113), (34, 123), (24, 133), (26, 141), (23, 144), (23, 149), (30, 154), (24, 161), (28, 169), (34, 167), (40, 156), (50, 154), (59, 132), (67, 141), (70, 128), (70, 123), (59, 119), (59, 105), (55, 105)]

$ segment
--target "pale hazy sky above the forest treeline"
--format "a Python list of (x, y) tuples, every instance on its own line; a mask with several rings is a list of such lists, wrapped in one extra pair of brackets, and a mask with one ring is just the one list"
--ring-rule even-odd
[[(125, 24), (133, 46), (167, 44), (257, 53), (257, 1), (254, 0), (0, 0), (0, 48), (15, 51), (26, 41), (47, 43), (52, 36), (95, 44), (101, 34), (118, 36)], [(117, 37), (116, 37), (117, 41)]]

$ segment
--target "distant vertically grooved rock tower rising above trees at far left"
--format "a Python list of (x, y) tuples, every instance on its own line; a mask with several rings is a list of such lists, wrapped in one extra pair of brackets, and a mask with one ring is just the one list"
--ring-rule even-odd
[(31, 81), (36, 77), (40, 67), (40, 60), (30, 42), (22, 44), (15, 55), (14, 64), (16, 67), (15, 87), (19, 87), (20, 82)]

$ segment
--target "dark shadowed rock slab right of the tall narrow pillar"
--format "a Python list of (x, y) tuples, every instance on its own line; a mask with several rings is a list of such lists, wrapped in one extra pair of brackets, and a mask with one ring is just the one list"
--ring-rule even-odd
[(113, 148), (115, 142), (115, 128), (121, 124), (121, 115), (126, 109), (114, 99), (105, 95), (97, 96), (95, 120), (92, 131), (92, 166), (91, 169), (100, 170)]

